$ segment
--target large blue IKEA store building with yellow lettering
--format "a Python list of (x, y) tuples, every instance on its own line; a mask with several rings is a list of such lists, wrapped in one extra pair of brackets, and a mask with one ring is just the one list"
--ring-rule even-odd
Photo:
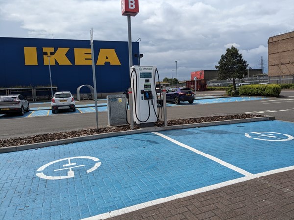
[[(53, 87), (73, 94), (93, 86), (90, 40), (0, 37), (0, 88)], [(139, 43), (132, 43), (133, 57)], [(128, 42), (94, 41), (97, 93), (123, 92), (129, 87)], [(133, 59), (133, 65), (138, 60)], [(81, 90), (82, 93), (82, 90)]]

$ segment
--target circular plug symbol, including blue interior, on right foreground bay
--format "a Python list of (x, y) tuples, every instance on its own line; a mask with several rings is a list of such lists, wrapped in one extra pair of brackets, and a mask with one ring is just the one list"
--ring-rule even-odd
[[(290, 141), (294, 139), (293, 136), (288, 134), (281, 134), (276, 132), (250, 132), (250, 134), (245, 133), (245, 136), (248, 138), (264, 141)], [(285, 138), (285, 136), (287, 138)]]

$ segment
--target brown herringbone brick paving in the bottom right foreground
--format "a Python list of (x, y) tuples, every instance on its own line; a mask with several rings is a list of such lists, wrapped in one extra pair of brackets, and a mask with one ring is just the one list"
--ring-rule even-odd
[(292, 220), (294, 171), (263, 176), (109, 220)]

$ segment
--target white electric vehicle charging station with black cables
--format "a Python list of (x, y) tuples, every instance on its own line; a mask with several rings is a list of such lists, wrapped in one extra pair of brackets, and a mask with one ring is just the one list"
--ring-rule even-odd
[(130, 82), (133, 90), (133, 117), (139, 127), (154, 126), (156, 110), (156, 66), (132, 66)]

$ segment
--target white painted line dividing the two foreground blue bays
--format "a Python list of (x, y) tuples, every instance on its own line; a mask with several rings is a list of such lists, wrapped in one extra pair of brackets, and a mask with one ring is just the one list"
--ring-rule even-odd
[(174, 140), (174, 139), (172, 139), (172, 138), (170, 138), (170, 137), (168, 137), (166, 135), (163, 135), (163, 134), (158, 133), (158, 132), (152, 132), (152, 133), (154, 133), (154, 134), (156, 134), (156, 135), (158, 135), (160, 137), (163, 137), (163, 138), (171, 141), (172, 143), (175, 143), (175, 144), (177, 144), (177, 145), (179, 145), (181, 147), (184, 147), (184, 148), (186, 148), (186, 149), (188, 149), (190, 151), (193, 151), (196, 154), (199, 154), (199, 155), (204, 156), (204, 157), (206, 157), (206, 158), (208, 158), (210, 160), (213, 160), (213, 161), (221, 164), (222, 166), (225, 166), (225, 167), (227, 167), (227, 168), (229, 168), (231, 170), (234, 170), (234, 171), (236, 171), (236, 172), (238, 172), (240, 174), (243, 174), (244, 176), (250, 176), (250, 177), (254, 176), (253, 174), (251, 174), (251, 173), (249, 173), (249, 172), (247, 172), (247, 171), (245, 171), (245, 170), (243, 170), (243, 169), (241, 169), (239, 167), (236, 167), (236, 166), (234, 166), (232, 164), (229, 164), (229, 163), (227, 163), (227, 162), (225, 162), (225, 161), (223, 161), (221, 159), (218, 159), (218, 158), (216, 158), (216, 157), (214, 157), (212, 155), (206, 154), (206, 153), (204, 153), (202, 151), (196, 150), (195, 148), (192, 148), (192, 147), (190, 147), (190, 146), (188, 146), (186, 144), (183, 144), (183, 143), (181, 143), (179, 141), (176, 141), (176, 140)]

